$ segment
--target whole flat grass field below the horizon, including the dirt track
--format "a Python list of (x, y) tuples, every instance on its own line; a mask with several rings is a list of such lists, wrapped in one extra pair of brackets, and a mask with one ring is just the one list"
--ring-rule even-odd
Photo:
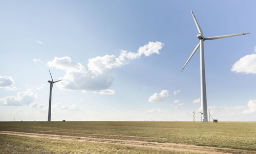
[(256, 153), (256, 122), (0, 122), (0, 131), (0, 153)]

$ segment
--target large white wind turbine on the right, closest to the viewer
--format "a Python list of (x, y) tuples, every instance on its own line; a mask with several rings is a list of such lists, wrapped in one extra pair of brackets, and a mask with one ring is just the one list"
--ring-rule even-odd
[[(203, 118), (201, 122), (208, 122), (207, 120), (207, 100), (206, 100), (206, 86), (205, 86), (205, 70), (204, 70), (204, 41), (205, 40), (216, 40), (216, 39), (221, 39), (221, 38), (226, 38), (226, 37), (232, 37), (232, 36), (239, 36), (239, 35), (246, 35), (250, 33), (240, 33), (240, 34), (230, 34), (230, 35), (221, 35), (221, 36), (214, 36), (214, 37), (204, 37), (203, 36), (203, 31), (200, 28), (200, 25), (191, 10), (192, 16), (195, 20), (195, 23), (197, 25), (197, 29), (199, 34), (197, 35), (197, 38), (200, 40), (200, 42), (197, 44), (196, 48), (192, 52), (192, 54), (189, 56), (188, 60), (186, 61), (185, 65), (181, 69), (181, 71), (185, 68), (187, 65), (188, 61), (191, 59), (191, 57), (196, 53), (197, 49), (200, 46), (200, 76), (201, 76), (201, 110), (203, 111)], [(202, 117), (202, 115), (201, 115)]]

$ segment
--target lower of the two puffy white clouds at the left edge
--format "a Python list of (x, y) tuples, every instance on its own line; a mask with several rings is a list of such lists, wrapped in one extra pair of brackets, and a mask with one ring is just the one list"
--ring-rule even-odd
[(36, 94), (31, 89), (27, 89), (24, 92), (18, 92), (17, 96), (6, 96), (0, 99), (0, 105), (2, 106), (23, 106), (29, 105), (34, 102)]

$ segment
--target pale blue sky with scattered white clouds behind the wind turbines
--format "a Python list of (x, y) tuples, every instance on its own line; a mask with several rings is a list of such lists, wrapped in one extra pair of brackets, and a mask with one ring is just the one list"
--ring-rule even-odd
[[(256, 120), (255, 1), (0, 1), (0, 121)], [(212, 119), (211, 119), (212, 120)]]

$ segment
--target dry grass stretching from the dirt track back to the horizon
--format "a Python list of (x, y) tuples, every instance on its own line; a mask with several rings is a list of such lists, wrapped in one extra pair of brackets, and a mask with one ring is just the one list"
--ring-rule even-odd
[(256, 122), (0, 122), (0, 130), (227, 147), (256, 153)]

